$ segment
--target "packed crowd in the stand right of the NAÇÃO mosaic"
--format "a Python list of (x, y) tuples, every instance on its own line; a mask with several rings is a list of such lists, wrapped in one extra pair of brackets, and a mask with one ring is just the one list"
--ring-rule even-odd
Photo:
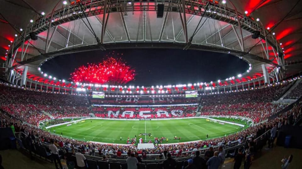
[[(272, 104), (278, 97), (277, 92), (287, 85), (277, 85), (224, 95), (206, 95), (201, 97), (201, 115), (243, 116), (259, 123), (284, 108), (284, 105)], [(276, 94), (277, 93), (277, 94)]]

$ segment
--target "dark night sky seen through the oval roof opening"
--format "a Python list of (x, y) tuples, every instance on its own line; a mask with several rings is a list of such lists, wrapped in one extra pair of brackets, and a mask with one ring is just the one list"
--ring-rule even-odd
[[(111, 53), (111, 54), (109, 54)], [(122, 58), (136, 70), (135, 80), (127, 85), (177, 85), (217, 81), (244, 73), (249, 65), (230, 54), (182, 49), (120, 49), (67, 54), (44, 63), (44, 73), (69, 79), (81, 65), (99, 63), (108, 56)], [(122, 55), (121, 55), (122, 54)]]

